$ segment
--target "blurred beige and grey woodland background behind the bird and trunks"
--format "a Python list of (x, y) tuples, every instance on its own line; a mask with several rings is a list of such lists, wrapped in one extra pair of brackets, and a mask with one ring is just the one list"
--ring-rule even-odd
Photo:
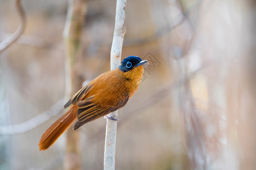
[[(74, 1), (75, 2), (75, 1)], [(79, 1), (77, 2), (79, 3)], [(84, 1), (79, 79), (110, 70), (115, 1)], [(0, 169), (64, 169), (65, 135), (38, 143), (67, 101), (63, 31), (72, 1), (0, 0)], [(118, 114), (116, 169), (256, 167), (256, 2), (128, 0), (122, 58), (148, 60)], [(105, 118), (80, 128), (81, 169), (103, 169)], [(73, 139), (74, 141), (76, 139)]]

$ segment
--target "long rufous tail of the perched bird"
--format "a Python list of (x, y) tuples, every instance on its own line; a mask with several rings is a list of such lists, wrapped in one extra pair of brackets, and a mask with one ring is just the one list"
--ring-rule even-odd
[(47, 150), (53, 143), (71, 126), (76, 120), (77, 107), (72, 106), (67, 113), (63, 114), (54, 124), (52, 124), (42, 135), (38, 144), (39, 150)]

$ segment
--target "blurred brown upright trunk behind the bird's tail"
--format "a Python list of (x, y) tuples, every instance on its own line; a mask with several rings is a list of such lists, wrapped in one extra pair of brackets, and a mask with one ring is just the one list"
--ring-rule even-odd
[[(82, 76), (79, 71), (82, 26), (85, 23), (85, 0), (69, 0), (67, 20), (63, 36), (67, 48), (66, 60), (66, 96), (71, 97), (82, 87)], [(65, 169), (81, 169), (79, 130), (67, 130)]]

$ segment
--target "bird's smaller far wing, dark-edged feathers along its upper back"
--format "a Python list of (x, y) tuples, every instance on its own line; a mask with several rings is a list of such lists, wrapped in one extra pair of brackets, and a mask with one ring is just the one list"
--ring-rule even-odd
[(87, 84), (85, 87), (81, 88), (69, 101), (64, 105), (64, 109), (69, 107), (69, 105), (75, 105), (78, 101), (84, 99), (84, 97), (92, 90), (92, 85)]

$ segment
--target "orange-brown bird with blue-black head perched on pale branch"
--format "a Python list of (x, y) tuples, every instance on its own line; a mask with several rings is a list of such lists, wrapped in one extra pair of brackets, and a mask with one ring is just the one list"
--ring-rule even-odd
[[(42, 135), (39, 150), (47, 150), (76, 121), (73, 130), (124, 107), (137, 91), (147, 60), (129, 56), (115, 69), (103, 73), (81, 88), (64, 105), (69, 110), (54, 122)], [(108, 117), (117, 121), (115, 117)]]

